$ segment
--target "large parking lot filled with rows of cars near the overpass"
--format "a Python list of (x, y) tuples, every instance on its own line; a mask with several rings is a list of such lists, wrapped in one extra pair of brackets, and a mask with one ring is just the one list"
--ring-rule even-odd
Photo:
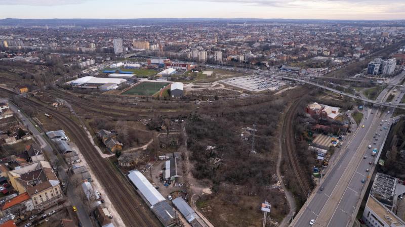
[(264, 90), (278, 90), (286, 85), (283, 82), (258, 76), (241, 76), (222, 80), (224, 83), (239, 87), (251, 92), (263, 92)]

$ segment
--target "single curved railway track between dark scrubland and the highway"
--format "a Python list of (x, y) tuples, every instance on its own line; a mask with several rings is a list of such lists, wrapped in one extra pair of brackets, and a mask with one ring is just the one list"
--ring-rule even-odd
[(294, 142), (294, 129), (293, 129), (293, 123), (294, 123), (294, 117), (297, 113), (298, 110), (298, 103), (300, 103), (304, 99), (304, 96), (302, 96), (299, 99), (295, 99), (293, 102), (292, 106), (287, 111), (287, 116), (284, 119), (283, 123), (283, 133), (284, 133), (284, 147), (286, 148), (287, 154), (289, 161), (291, 163), (291, 166), (293, 167), (294, 173), (296, 175), (296, 178), (298, 180), (298, 184), (301, 187), (302, 195), (307, 197), (308, 192), (311, 190), (308, 182), (305, 180), (307, 176), (304, 174), (300, 162), (297, 157), (296, 149), (295, 149), (295, 142)]

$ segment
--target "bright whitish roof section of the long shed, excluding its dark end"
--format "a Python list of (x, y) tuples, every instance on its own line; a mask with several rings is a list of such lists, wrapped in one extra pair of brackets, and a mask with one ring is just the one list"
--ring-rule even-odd
[(146, 200), (153, 206), (158, 202), (166, 201), (153, 186), (149, 180), (138, 170), (131, 170), (128, 177), (138, 189), (138, 191), (146, 198)]

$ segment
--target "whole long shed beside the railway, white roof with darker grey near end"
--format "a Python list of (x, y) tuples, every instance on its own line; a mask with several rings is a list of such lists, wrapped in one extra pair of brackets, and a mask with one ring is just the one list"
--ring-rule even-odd
[(166, 199), (150, 184), (149, 180), (138, 170), (131, 170), (128, 178), (138, 189), (137, 192), (150, 206), (152, 212), (159, 221), (166, 227), (175, 223), (176, 214), (173, 207)]

